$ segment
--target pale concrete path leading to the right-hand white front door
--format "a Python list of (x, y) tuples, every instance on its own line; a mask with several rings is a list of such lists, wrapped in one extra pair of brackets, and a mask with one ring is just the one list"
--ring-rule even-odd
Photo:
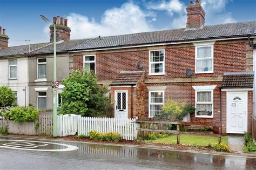
[(244, 147), (244, 135), (229, 135), (227, 137), (227, 144), (230, 145), (231, 151), (242, 153)]

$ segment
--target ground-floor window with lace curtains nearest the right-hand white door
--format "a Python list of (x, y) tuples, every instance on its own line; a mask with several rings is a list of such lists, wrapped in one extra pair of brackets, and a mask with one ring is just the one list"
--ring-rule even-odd
[(196, 91), (196, 117), (213, 117), (213, 91)]

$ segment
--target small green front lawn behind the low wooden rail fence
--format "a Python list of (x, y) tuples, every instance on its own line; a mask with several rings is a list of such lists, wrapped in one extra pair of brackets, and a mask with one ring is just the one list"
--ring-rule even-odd
[[(151, 143), (177, 144), (177, 135), (171, 134), (167, 138), (146, 140)], [(180, 134), (180, 143), (191, 146), (208, 146), (210, 143), (214, 147), (218, 143), (218, 137)], [(221, 137), (221, 143), (227, 144), (227, 137)]]

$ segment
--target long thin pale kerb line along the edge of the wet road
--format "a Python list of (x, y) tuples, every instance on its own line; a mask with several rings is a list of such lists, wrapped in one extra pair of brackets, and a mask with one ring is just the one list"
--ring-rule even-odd
[[(24, 137), (14, 137), (14, 136), (8, 136), (8, 135), (7, 136), (0, 135), (0, 137), (5, 137), (5, 138), (6, 137), (8, 137), (8, 138), (21, 138), (21, 139), (36, 139), (36, 140), (38, 140), (38, 138), (24, 138)], [(248, 156), (242, 156), (242, 155), (230, 155), (230, 154), (221, 154), (221, 153), (205, 153), (205, 152), (199, 152), (199, 151), (176, 150), (176, 149), (169, 149), (169, 148), (149, 147), (149, 146), (122, 145), (122, 144), (104, 144), (104, 143), (95, 143), (95, 142), (86, 142), (86, 141), (71, 141), (71, 140), (63, 140), (61, 138), (60, 138), (60, 140), (56, 140), (56, 139), (40, 139), (40, 140), (58, 141), (58, 142), (72, 142), (72, 143), (79, 143), (79, 144), (105, 145), (105, 146), (135, 147), (135, 148), (144, 148), (144, 149), (155, 149), (155, 150), (161, 150), (161, 151), (197, 153), (197, 154), (224, 156), (224, 157), (237, 157), (237, 158), (252, 158), (252, 159), (256, 159), (256, 157), (248, 157)]]

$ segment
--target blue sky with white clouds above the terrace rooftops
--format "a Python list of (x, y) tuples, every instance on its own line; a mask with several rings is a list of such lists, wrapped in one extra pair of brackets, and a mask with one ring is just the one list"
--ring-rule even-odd
[[(190, 0), (0, 0), (9, 46), (49, 42), (53, 16), (68, 18), (71, 39), (186, 27)], [(256, 0), (201, 0), (205, 25), (256, 21)]]

